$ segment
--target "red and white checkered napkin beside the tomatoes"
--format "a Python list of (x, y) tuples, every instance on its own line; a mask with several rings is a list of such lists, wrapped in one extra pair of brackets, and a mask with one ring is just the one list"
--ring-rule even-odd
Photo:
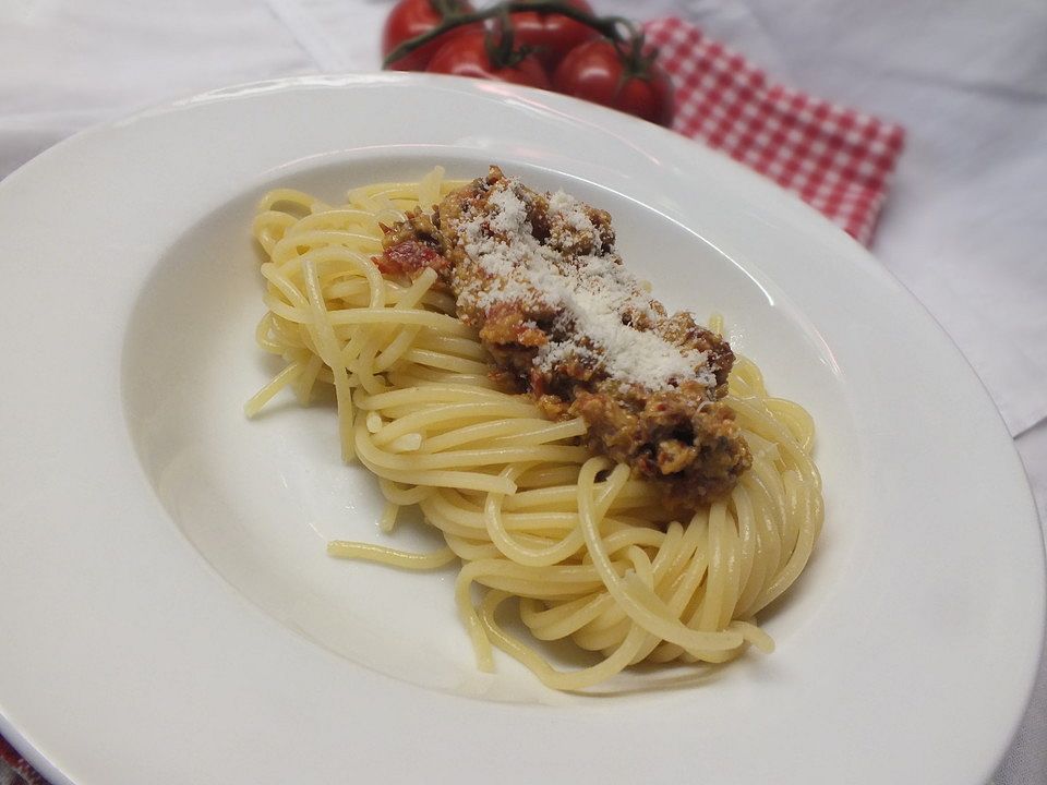
[(676, 87), (673, 129), (774, 180), (868, 244), (905, 132), (777, 84), (678, 19), (643, 31)]

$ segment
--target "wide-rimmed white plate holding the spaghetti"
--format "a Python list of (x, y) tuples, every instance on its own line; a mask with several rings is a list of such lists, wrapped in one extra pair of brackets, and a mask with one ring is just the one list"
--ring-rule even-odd
[[(273, 370), (258, 195), (492, 161), (607, 207), (655, 293), (815, 414), (828, 517), (774, 654), (610, 698), (480, 674), (452, 571), (324, 554), (383, 539), (332, 411), (241, 414)], [(992, 404), (865, 251), (682, 137), (495, 83), (224, 90), (11, 176), (0, 259), (0, 730), (56, 782), (982, 785), (1019, 722), (1043, 550)]]

